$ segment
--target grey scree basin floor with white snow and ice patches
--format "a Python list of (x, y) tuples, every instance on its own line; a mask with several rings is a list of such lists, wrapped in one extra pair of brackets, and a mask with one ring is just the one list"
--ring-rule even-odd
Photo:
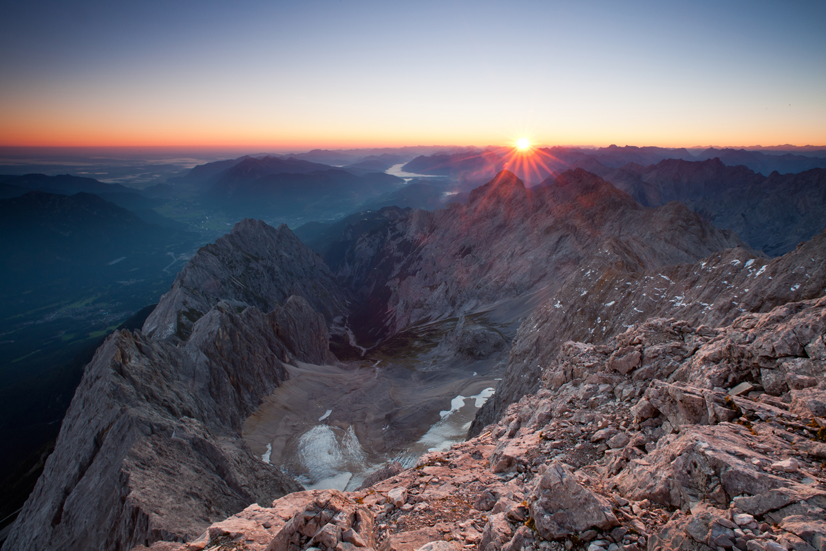
[(308, 488), (353, 489), (387, 461), (411, 466), (465, 439), (504, 371), (490, 360), (443, 361), (453, 365), (287, 366), (290, 378), (246, 420), (244, 440)]

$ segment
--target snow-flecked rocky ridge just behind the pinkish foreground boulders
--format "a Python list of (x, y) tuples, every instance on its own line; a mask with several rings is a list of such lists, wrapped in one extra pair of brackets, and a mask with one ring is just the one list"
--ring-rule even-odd
[(620, 247), (612, 240), (598, 249), (520, 326), (505, 377), (477, 413), (471, 435), (536, 392), (543, 366), (566, 340), (603, 343), (651, 317), (729, 325), (746, 312), (769, 311), (826, 291), (826, 231), (771, 260), (737, 247), (696, 264), (638, 269), (617, 254)]

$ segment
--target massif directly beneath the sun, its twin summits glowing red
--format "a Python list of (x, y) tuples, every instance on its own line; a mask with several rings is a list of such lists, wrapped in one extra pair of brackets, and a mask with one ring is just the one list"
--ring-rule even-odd
[(746, 245), (686, 207), (640, 207), (582, 169), (537, 190), (502, 171), (464, 205), (412, 211), (361, 235), (336, 274), (356, 295), (351, 326), (374, 342), (414, 321), (556, 291), (606, 248), (626, 269), (644, 269), (734, 246)]

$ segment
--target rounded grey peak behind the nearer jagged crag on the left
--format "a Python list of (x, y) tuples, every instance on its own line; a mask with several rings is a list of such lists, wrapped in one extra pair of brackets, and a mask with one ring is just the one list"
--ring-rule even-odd
[(346, 311), (346, 294), (318, 254), (286, 224), (276, 229), (248, 218), (198, 250), (143, 331), (154, 339), (186, 340), (192, 324), (220, 300), (266, 312), (291, 295), (306, 299), (328, 323)]

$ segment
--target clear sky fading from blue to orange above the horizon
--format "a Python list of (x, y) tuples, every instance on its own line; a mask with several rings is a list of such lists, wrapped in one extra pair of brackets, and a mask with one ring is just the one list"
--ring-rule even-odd
[(0, 2), (0, 145), (826, 145), (822, 0)]

